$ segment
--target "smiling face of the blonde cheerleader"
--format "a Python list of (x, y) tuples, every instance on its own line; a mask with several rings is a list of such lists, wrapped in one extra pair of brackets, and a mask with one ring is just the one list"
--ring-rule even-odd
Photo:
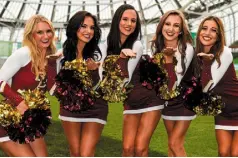
[(53, 40), (53, 31), (46, 22), (39, 22), (36, 24), (35, 31), (33, 31), (33, 38), (40, 49), (47, 49)]

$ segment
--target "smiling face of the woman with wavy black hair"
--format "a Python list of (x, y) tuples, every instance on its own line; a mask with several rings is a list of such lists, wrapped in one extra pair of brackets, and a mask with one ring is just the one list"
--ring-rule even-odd
[(77, 31), (79, 42), (88, 43), (94, 36), (94, 21), (90, 16), (86, 16), (84, 22)]

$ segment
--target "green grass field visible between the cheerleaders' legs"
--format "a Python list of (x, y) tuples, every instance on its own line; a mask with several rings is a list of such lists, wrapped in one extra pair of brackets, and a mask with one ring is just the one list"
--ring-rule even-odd
[[(58, 120), (59, 105), (54, 97), (50, 97), (53, 121), (45, 137), (49, 156), (69, 156), (68, 145)], [(96, 155), (99, 157), (120, 157), (122, 151), (122, 105), (110, 104), (108, 122), (97, 145)], [(192, 121), (187, 132), (185, 148), (188, 156), (217, 156), (217, 144), (214, 135), (213, 117), (200, 116)], [(0, 152), (0, 156), (5, 156)], [(167, 156), (167, 135), (161, 120), (151, 139), (149, 156)]]

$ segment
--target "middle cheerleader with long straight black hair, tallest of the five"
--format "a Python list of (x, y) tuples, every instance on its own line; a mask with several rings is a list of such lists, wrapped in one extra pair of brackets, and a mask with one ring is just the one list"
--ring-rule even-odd
[(117, 63), (128, 78), (126, 85), (133, 85), (124, 101), (122, 156), (148, 156), (150, 139), (163, 108), (163, 101), (155, 92), (143, 88), (140, 83), (139, 66), (143, 54), (140, 36), (138, 13), (133, 6), (124, 4), (115, 12), (107, 42), (100, 46), (107, 57), (120, 55)]

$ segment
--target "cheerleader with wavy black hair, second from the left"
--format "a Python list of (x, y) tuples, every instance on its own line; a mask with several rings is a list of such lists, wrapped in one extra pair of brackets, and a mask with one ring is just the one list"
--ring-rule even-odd
[[(62, 122), (64, 133), (69, 143), (70, 156), (92, 157), (94, 156), (96, 144), (99, 141), (103, 127), (107, 122), (108, 105), (101, 98), (97, 98), (93, 102), (92, 98), (86, 94), (86, 91), (81, 91), (82, 89), (79, 89), (82, 93), (80, 92), (79, 94), (77, 91), (76, 94), (75, 87), (84, 82), (83, 86), (86, 86), (86, 89), (91, 91), (92, 87), (87, 86), (91, 84), (95, 86), (100, 80), (98, 61), (103, 57), (100, 53), (95, 53), (101, 37), (101, 30), (96, 17), (87, 11), (75, 13), (67, 25), (66, 36), (67, 39), (63, 44), (64, 58), (61, 61), (62, 69), (56, 77), (55, 95), (61, 104), (59, 119)], [(76, 61), (75, 59), (79, 61), (76, 62), (76, 66), (81, 64), (81, 66), (78, 65), (80, 71), (86, 69), (83, 73), (88, 74), (88, 81), (85, 81), (85, 78), (75, 81), (74, 75), (62, 73), (67, 63), (74, 62)], [(84, 76), (83, 73), (79, 73), (79, 77)], [(68, 96), (64, 96), (64, 93), (61, 93), (64, 86), (62, 79), (65, 78), (67, 78), (69, 83), (67, 86), (71, 87), (71, 90), (67, 92)], [(69, 80), (75, 81), (74, 85)], [(91, 81), (92, 83), (89, 83)], [(78, 101), (83, 96), (88, 97), (88, 102), (79, 103)], [(73, 100), (68, 101), (67, 99), (70, 97)], [(75, 104), (69, 107), (68, 104), (71, 103)], [(88, 108), (88, 104), (91, 105), (91, 103), (93, 105), (91, 108)], [(77, 108), (81, 108), (81, 110)]]

